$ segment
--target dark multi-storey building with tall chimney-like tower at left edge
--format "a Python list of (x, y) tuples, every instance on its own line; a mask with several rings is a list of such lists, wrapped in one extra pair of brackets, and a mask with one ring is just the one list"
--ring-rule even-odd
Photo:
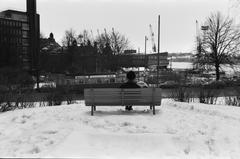
[(27, 0), (26, 12), (0, 12), (0, 67), (16, 66), (36, 73), (39, 65), (39, 35), (36, 0)]

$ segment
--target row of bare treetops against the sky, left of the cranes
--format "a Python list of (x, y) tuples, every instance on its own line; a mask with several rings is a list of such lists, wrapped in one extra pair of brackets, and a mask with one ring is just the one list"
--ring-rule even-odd
[(111, 32), (107, 32), (105, 29), (101, 34), (98, 31), (97, 36), (94, 36), (92, 31), (84, 30), (82, 33), (76, 34), (76, 31), (69, 29), (65, 31), (62, 45), (67, 48), (93, 46), (97, 49), (97, 53), (103, 55), (118, 55), (122, 54), (124, 50), (130, 49), (128, 38), (114, 29)]

